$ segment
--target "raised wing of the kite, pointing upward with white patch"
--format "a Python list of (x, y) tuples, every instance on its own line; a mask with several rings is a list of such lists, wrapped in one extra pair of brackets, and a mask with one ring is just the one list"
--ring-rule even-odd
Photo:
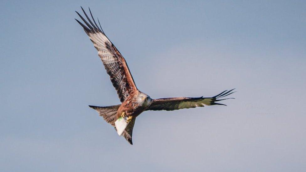
[(137, 90), (133, 77), (129, 71), (129, 67), (117, 48), (107, 38), (103, 30), (98, 27), (96, 21), (92, 17), (90, 9), (89, 12), (94, 24), (89, 19), (83, 8), (82, 10), (89, 23), (78, 12), (77, 14), (87, 26), (77, 19), (76, 20), (84, 28), (94, 47), (98, 50), (98, 56), (102, 60), (103, 65), (110, 76), (110, 80), (117, 91), (119, 99), (121, 102), (124, 102), (132, 92)]

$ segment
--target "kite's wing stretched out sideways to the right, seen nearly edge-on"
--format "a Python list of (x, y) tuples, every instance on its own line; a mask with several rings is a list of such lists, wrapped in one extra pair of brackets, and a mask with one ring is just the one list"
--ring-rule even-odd
[[(234, 90), (234, 89), (233, 89)], [(217, 96), (213, 97), (174, 97), (174, 98), (161, 98), (161, 99), (154, 99), (150, 107), (146, 110), (153, 110), (153, 111), (173, 111), (178, 109), (185, 109), (185, 108), (195, 108), (195, 107), (204, 107), (209, 105), (224, 105), (220, 103), (216, 103), (221, 100), (226, 99), (233, 99), (233, 98), (225, 98), (219, 99), (225, 96), (228, 96), (234, 92), (233, 90), (223, 91), (222, 93), (218, 94)], [(226, 105), (225, 105), (226, 106)]]

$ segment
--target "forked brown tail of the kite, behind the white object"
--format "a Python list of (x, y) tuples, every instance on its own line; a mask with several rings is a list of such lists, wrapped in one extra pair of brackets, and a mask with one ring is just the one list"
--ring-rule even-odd
[[(117, 111), (120, 107), (120, 105), (115, 105), (115, 106), (105, 106), (105, 107), (100, 107), (100, 106), (89, 106), (92, 109), (96, 110), (103, 119), (111, 124), (115, 130), (115, 121), (117, 120)], [(124, 132), (122, 133), (122, 136), (130, 143), (133, 144), (132, 142), (132, 133), (133, 133), (133, 128), (135, 124), (135, 118), (133, 117), (131, 122), (129, 122), (128, 126), (125, 128)]]

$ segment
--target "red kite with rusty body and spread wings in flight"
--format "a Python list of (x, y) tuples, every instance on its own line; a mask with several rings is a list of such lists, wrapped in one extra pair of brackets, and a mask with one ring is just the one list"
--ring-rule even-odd
[[(81, 7), (82, 8), (82, 7)], [(204, 107), (209, 105), (224, 105), (217, 103), (218, 101), (229, 99), (223, 98), (228, 96), (233, 92), (232, 90), (226, 90), (220, 94), (213, 97), (174, 97), (174, 98), (160, 98), (152, 99), (147, 94), (139, 91), (135, 85), (129, 67), (117, 50), (114, 44), (105, 35), (100, 22), (98, 20), (99, 26), (92, 17), (92, 13), (89, 9), (92, 20), (87, 16), (84, 9), (82, 11), (87, 18), (83, 18), (77, 11), (76, 13), (85, 23), (83, 24), (79, 20), (76, 21), (83, 27), (86, 34), (89, 36), (94, 47), (98, 50), (98, 56), (103, 62), (107, 74), (110, 76), (110, 80), (115, 87), (117, 94), (119, 96), (121, 104), (114, 106), (89, 106), (92, 109), (98, 111), (99, 115), (103, 119), (115, 127), (117, 130), (115, 122), (120, 117), (126, 117), (126, 122), (129, 122), (126, 128), (123, 130), (121, 135), (130, 143), (132, 143), (132, 133), (135, 124), (135, 119), (140, 113), (148, 110), (153, 111), (173, 111), (184, 108), (195, 108)]]

